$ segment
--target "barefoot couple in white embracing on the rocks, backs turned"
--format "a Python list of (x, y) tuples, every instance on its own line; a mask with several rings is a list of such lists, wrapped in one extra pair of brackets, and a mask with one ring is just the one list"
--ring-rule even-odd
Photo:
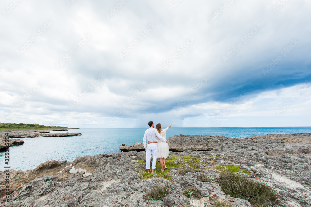
[[(156, 125), (156, 129), (154, 128), (153, 121), (148, 122), (149, 129), (145, 131), (144, 135), (144, 148), (146, 151), (146, 169), (148, 173), (150, 173), (150, 158), (152, 153), (152, 174), (156, 173), (156, 159), (160, 159), (161, 171), (163, 172), (166, 169), (165, 158), (169, 155), (169, 145), (166, 143), (166, 131), (173, 125), (170, 124), (167, 128), (162, 129), (161, 124)], [(148, 143), (146, 145), (146, 140)], [(164, 167), (164, 168), (163, 168)]]

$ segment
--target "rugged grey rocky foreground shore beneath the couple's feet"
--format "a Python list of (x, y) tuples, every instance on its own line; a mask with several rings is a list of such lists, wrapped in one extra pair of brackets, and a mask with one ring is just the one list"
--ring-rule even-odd
[[(123, 145), (123, 151), (109, 155), (47, 161), (33, 170), (11, 169), (9, 203), (3, 197), (2, 171), (0, 203), (5, 207), (254, 206), (251, 200), (224, 193), (218, 179), (221, 173), (232, 171), (275, 191), (278, 203), (266, 206), (307, 207), (311, 206), (310, 138), (310, 133), (246, 139), (173, 136), (168, 138), (168, 169), (161, 172), (157, 164), (153, 175), (146, 173), (146, 153), (140, 143)], [(161, 200), (146, 197), (158, 186), (168, 189)], [(197, 194), (189, 194), (189, 189)]]

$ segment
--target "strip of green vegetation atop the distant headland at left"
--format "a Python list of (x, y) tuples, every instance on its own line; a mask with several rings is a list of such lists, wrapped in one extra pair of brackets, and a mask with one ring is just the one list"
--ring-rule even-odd
[(41, 124), (24, 124), (24, 123), (1, 123), (0, 130), (32, 130), (32, 129), (68, 129), (68, 127), (62, 126), (45, 126)]

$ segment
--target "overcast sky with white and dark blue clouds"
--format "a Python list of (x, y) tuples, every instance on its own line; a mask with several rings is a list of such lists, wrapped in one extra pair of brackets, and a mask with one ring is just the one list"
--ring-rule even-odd
[(309, 0), (0, 8), (0, 122), (311, 126)]

